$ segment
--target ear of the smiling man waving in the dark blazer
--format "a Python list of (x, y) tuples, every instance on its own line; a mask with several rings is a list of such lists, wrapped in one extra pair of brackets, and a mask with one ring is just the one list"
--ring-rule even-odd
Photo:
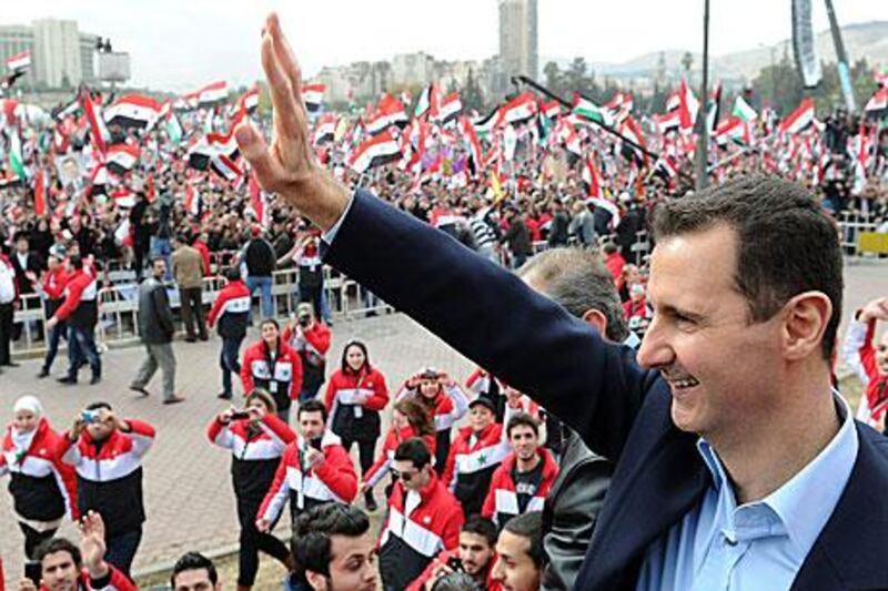
[(789, 360), (819, 355), (824, 333), (833, 317), (833, 303), (823, 292), (805, 292), (784, 306), (783, 349)]

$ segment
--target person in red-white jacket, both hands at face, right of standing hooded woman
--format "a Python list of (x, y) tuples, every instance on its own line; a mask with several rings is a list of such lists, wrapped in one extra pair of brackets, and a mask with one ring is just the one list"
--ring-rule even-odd
[(413, 397), (428, 412), (435, 424), (435, 470), (443, 473), (451, 451), (451, 428), (468, 410), (468, 397), (450, 376), (427, 367), (408, 378), (395, 396), (395, 400)]

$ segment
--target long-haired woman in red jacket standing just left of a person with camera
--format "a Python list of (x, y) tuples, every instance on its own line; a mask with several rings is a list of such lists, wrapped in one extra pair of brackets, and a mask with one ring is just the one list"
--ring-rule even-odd
[(266, 318), (259, 329), (262, 338), (248, 347), (241, 361), (243, 389), (262, 388), (271, 394), (278, 417), (290, 422), (290, 406), (302, 390), (302, 359), (281, 338), (278, 320)]

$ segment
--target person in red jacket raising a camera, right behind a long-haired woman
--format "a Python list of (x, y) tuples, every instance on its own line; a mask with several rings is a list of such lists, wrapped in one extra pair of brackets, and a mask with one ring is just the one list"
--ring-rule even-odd
[(286, 326), (281, 335), (284, 343), (302, 359), (302, 391), (300, 403), (317, 396), (326, 379), (326, 353), (330, 350), (330, 327), (314, 314), (309, 303), (296, 306), (296, 322)]

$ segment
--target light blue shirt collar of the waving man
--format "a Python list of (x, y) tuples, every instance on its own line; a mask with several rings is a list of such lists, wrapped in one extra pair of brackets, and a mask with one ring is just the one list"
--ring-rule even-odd
[[(807, 556), (845, 490), (860, 446), (848, 403), (837, 391), (834, 391), (834, 398), (841, 427), (801, 471), (764, 499), (740, 507), (736, 506), (733, 490), (729, 491), (734, 509), (728, 514), (729, 529), (738, 538), (786, 532), (797, 556)], [(715, 489), (730, 486), (722, 461), (708, 441), (700, 438), (697, 449), (713, 475)]]

